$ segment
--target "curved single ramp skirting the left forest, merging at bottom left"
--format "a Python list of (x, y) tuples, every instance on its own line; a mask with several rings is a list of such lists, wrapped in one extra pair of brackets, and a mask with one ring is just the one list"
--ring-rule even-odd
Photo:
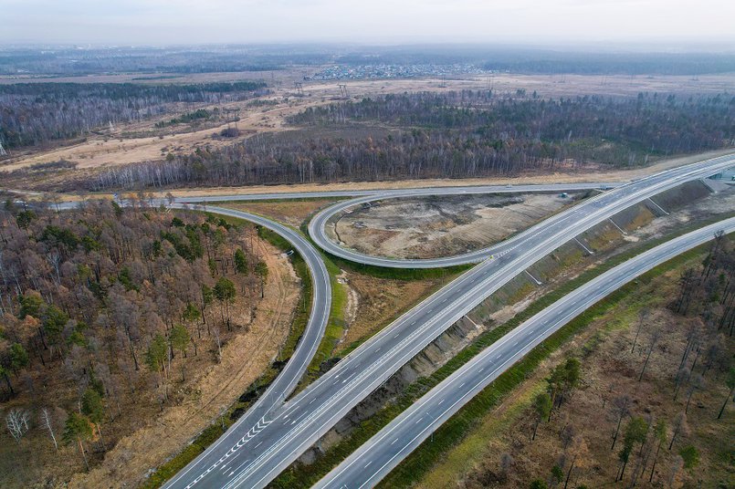
[[(183, 204), (176, 203), (173, 204), (173, 207), (181, 208)], [(189, 207), (197, 208), (196, 206)], [(313, 284), (311, 313), (303, 336), (300, 338), (293, 355), (291, 355), (284, 369), (278, 374), (276, 380), (270, 384), (268, 390), (212, 446), (177, 473), (167, 484), (169, 486), (176, 486), (180, 481), (188, 481), (188, 476), (192, 473), (198, 474), (206, 471), (212, 460), (222, 457), (230, 448), (236, 446), (237, 443), (244, 444), (268, 423), (266, 421), (268, 413), (281, 406), (286, 397), (294, 390), (319, 348), (319, 343), (321, 337), (324, 335), (324, 328), (326, 328), (331, 308), (331, 285), (327, 268), (321, 259), (319, 251), (301, 234), (288, 226), (274, 223), (269, 219), (251, 213), (212, 206), (208, 206), (206, 211), (246, 219), (247, 221), (267, 227), (288, 240), (294, 249), (299, 252), (299, 255), (303, 257), (307, 266), (309, 266)]]

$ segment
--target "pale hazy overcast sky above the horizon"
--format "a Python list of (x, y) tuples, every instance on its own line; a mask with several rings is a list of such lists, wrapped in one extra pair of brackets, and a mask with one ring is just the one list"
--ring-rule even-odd
[(0, 43), (667, 41), (735, 47), (733, 0), (0, 0)]

